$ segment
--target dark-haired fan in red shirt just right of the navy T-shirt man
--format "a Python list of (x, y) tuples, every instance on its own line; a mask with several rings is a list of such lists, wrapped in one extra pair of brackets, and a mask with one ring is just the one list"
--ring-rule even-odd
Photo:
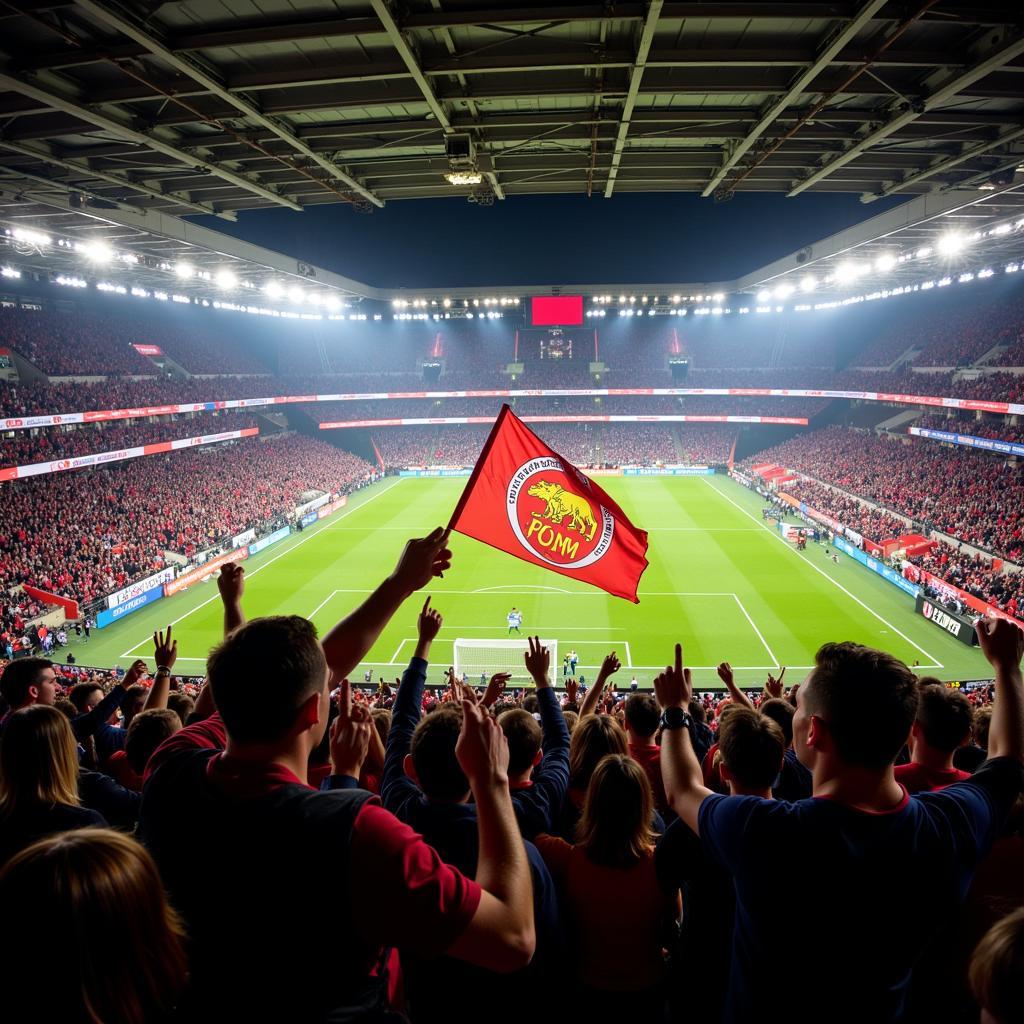
[(910, 763), (896, 766), (896, 781), (907, 793), (929, 793), (970, 778), (953, 757), (971, 738), (974, 709), (967, 695), (923, 679), (918, 717), (910, 729)]

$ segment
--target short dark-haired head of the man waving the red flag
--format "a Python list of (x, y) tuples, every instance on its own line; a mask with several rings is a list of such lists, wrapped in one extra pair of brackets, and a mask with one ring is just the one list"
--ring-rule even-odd
[(272, 743), (295, 726), (302, 705), (327, 683), (312, 623), (268, 615), (234, 630), (207, 660), (207, 678), (228, 736)]

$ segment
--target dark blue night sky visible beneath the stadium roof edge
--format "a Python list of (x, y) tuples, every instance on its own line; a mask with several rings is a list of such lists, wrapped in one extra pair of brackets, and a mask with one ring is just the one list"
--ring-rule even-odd
[(381, 288), (721, 281), (906, 202), (853, 195), (693, 194), (404, 200), (258, 210), (215, 230)]

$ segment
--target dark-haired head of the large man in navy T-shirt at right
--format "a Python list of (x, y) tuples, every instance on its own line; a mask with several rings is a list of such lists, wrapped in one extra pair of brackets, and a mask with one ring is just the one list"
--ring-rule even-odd
[(840, 759), (881, 771), (895, 760), (918, 714), (918, 679), (882, 650), (845, 641), (826, 643), (801, 687), (808, 715), (828, 730)]

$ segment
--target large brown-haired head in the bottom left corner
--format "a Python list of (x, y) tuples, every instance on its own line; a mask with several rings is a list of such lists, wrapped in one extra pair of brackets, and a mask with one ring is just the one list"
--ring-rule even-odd
[[(40, 1021), (150, 1024), (185, 982), (184, 936), (156, 864), (134, 840), (84, 828), (40, 840), (0, 869), (0, 963)], [(79, 936), (59, 964), (40, 955)]]

